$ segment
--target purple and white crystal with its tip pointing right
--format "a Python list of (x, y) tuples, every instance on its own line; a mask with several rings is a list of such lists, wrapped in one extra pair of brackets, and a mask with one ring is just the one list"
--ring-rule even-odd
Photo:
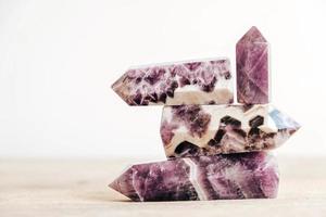
[(275, 149), (300, 125), (268, 104), (164, 106), (161, 138), (167, 157)]

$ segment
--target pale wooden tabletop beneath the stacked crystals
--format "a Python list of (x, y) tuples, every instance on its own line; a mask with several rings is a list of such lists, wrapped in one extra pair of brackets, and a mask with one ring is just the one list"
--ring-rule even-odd
[(326, 216), (326, 158), (278, 162), (274, 200), (135, 203), (106, 187), (135, 159), (0, 159), (0, 216)]

